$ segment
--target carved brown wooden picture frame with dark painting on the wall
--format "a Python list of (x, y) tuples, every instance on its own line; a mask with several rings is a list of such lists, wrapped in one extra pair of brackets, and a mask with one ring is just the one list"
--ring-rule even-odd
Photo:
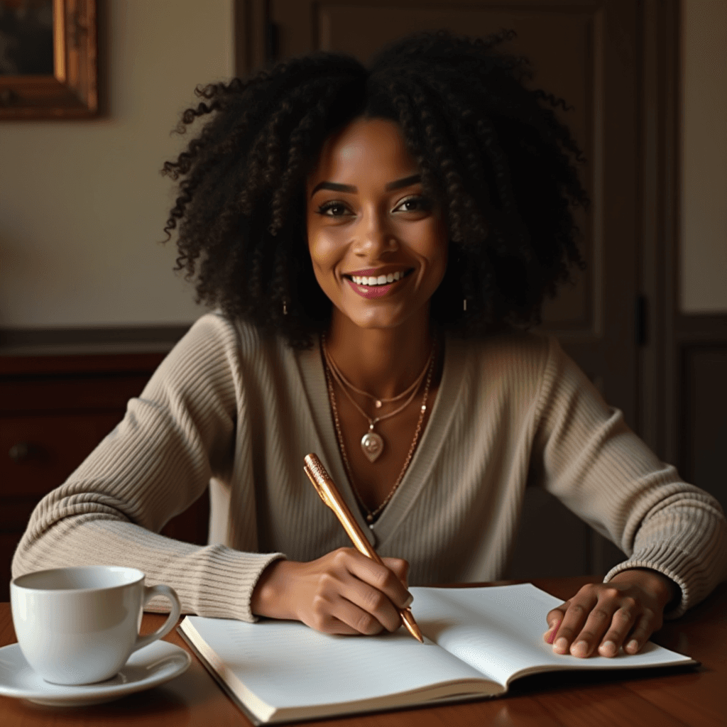
[(0, 0), (0, 41), (0, 121), (98, 113), (96, 0)]

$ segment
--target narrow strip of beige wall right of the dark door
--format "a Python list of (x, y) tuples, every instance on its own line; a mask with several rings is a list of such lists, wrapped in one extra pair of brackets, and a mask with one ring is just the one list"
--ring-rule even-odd
[(681, 309), (727, 312), (727, 2), (682, 0)]

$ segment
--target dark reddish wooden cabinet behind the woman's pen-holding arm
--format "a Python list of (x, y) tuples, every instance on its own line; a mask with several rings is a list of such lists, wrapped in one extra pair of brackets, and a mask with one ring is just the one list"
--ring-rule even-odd
[[(33, 507), (121, 421), (164, 355), (0, 356), (0, 601)], [(208, 519), (203, 497), (163, 532), (202, 544)]]

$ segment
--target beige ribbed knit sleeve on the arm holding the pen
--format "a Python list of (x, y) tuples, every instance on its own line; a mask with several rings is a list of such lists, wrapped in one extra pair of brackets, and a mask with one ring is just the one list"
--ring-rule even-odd
[[(236, 329), (200, 318), (123, 421), (31, 516), (14, 576), (73, 565), (133, 566), (177, 591), (185, 612), (253, 620), (250, 595), (279, 553), (199, 547), (158, 534), (233, 470), (241, 398)], [(155, 599), (153, 606), (166, 604)]]

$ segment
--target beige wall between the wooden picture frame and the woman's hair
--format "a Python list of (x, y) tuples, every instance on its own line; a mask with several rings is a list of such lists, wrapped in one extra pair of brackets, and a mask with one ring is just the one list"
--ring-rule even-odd
[(102, 2), (104, 118), (0, 124), (0, 328), (200, 312), (158, 244), (173, 199), (158, 170), (194, 87), (233, 74), (232, 0)]

